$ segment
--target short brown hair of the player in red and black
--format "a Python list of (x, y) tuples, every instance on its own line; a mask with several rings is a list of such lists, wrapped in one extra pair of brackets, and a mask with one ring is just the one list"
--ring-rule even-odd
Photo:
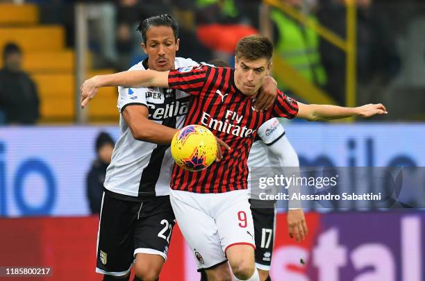
[(267, 58), (267, 60), (271, 60), (272, 56), (273, 43), (262, 35), (243, 37), (236, 45), (236, 58), (247, 58), (248, 60)]

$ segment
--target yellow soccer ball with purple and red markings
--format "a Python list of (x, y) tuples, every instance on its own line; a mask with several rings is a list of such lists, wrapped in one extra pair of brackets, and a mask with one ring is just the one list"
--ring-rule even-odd
[(201, 171), (213, 164), (217, 155), (217, 141), (207, 128), (189, 125), (174, 135), (171, 152), (178, 166), (188, 171)]

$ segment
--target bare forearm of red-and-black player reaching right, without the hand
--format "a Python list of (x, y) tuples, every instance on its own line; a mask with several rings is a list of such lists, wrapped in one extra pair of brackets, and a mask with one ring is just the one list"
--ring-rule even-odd
[(337, 105), (309, 105), (311, 108), (310, 121), (342, 119), (358, 115), (357, 108), (343, 108)]

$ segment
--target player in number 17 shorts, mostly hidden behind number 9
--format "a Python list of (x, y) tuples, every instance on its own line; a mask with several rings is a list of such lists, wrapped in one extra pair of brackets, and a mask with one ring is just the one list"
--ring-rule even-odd
[[(210, 60), (208, 64), (215, 67), (229, 67), (222, 60)], [(278, 171), (276, 171), (278, 173), (281, 173), (279, 167), (290, 167), (289, 170), (291, 172), (299, 173), (298, 155), (286, 137), (285, 129), (277, 118), (267, 120), (258, 128), (257, 136), (251, 146), (251, 151), (249, 151), (248, 167), (248, 190), (251, 189), (251, 171), (252, 169), (256, 169), (256, 167), (267, 167), (267, 172), (269, 172), (269, 167), (275, 167), (278, 168)], [(269, 176), (274, 175), (270, 174)], [(267, 194), (267, 189), (262, 189), (261, 191)], [(290, 194), (299, 192), (299, 188), (292, 187), (288, 191)], [(269, 271), (272, 264), (274, 235), (276, 233), (276, 202), (264, 202), (258, 200), (256, 196), (250, 197), (256, 241), (256, 268), (258, 269), (261, 281), (270, 281)], [(288, 203), (287, 221), (291, 238), (294, 237), (299, 241), (306, 237), (307, 224), (301, 208), (301, 202), (290, 201)], [(208, 278), (205, 271), (201, 271), (201, 281), (206, 280)]]

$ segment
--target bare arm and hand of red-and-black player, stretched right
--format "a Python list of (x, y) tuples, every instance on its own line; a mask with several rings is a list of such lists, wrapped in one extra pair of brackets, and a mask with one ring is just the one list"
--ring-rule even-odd
[(382, 103), (344, 108), (337, 105), (317, 105), (298, 103), (297, 117), (308, 121), (342, 119), (347, 117), (372, 117), (376, 114), (387, 114), (387, 109)]

